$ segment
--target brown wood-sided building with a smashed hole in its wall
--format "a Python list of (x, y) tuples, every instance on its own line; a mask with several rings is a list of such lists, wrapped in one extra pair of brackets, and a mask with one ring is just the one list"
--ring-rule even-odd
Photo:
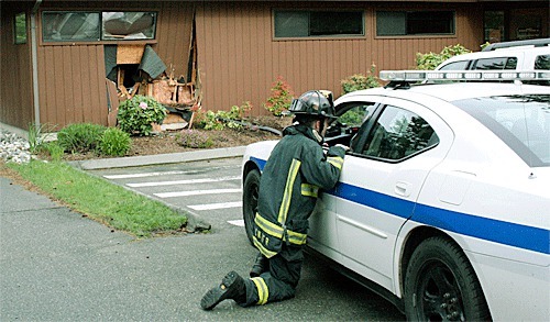
[(204, 110), (251, 101), (265, 114), (279, 76), (296, 93), (339, 96), (373, 64), (415, 68), (417, 53), (549, 34), (548, 0), (8, 0), (0, 13), (0, 122), (20, 129), (112, 124), (117, 87), (132, 91), (136, 76), (173, 76), (172, 99)]

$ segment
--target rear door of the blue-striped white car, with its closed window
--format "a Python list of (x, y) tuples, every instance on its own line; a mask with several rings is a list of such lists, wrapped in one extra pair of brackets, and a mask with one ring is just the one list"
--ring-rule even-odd
[(438, 148), (440, 133), (452, 132), (429, 109), (396, 98), (386, 98), (361, 131), (334, 189), (338, 249), (344, 266), (394, 291), (396, 236), (448, 151)]

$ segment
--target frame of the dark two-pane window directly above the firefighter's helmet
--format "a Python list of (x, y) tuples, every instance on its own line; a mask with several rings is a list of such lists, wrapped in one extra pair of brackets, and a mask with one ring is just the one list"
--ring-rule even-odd
[[(307, 36), (277, 36), (276, 35), (276, 13), (277, 12), (306, 12), (308, 13), (308, 35)], [(361, 13), (361, 34), (331, 34), (331, 35), (310, 35), (310, 13), (311, 12), (342, 12), (342, 13)], [(293, 9), (293, 8), (275, 8), (272, 9), (272, 40), (273, 41), (312, 41), (312, 40), (353, 40), (366, 37), (366, 13), (364, 9)]]

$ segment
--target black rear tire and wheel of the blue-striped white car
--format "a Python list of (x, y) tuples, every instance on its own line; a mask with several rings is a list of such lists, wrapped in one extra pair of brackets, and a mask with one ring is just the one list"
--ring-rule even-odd
[(452, 241), (430, 237), (415, 249), (405, 275), (409, 321), (488, 321), (491, 313), (466, 255)]

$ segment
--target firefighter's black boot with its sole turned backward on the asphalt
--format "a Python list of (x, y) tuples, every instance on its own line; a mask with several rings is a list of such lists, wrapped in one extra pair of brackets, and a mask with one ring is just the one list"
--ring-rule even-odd
[(238, 303), (243, 303), (246, 299), (244, 279), (234, 271), (228, 273), (219, 286), (212, 288), (202, 297), (200, 307), (204, 310), (211, 310), (226, 299), (233, 299)]

